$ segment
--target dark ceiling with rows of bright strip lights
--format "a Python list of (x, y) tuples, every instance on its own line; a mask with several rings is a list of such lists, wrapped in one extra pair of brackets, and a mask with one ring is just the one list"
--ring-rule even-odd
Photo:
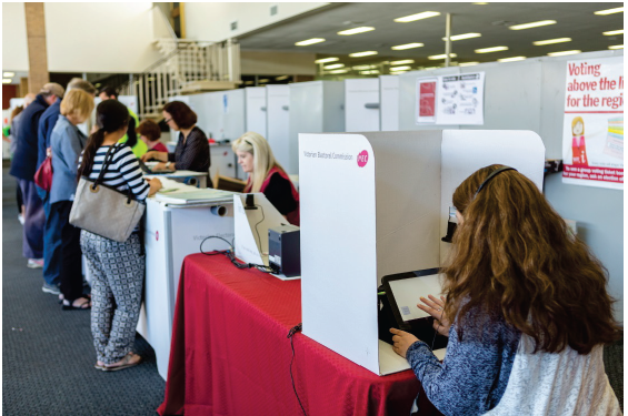
[[(624, 29), (624, 13), (596, 16), (595, 11), (622, 7), (624, 3), (562, 2), (510, 3), (489, 2), (485, 6), (457, 2), (358, 2), (331, 3), (301, 18), (279, 22), (239, 39), (242, 50), (271, 50), (285, 52), (315, 52), (319, 58), (339, 57), (340, 63), (380, 63), (387, 60), (413, 59), (415, 68), (435, 67), (441, 60), (427, 57), (445, 54), (446, 14), (451, 13), (451, 34), (477, 32), (481, 37), (452, 42), (455, 62), (489, 62), (510, 57), (542, 57), (548, 52), (607, 50), (622, 44), (624, 34), (608, 37), (602, 32)], [(440, 16), (398, 23), (393, 19), (423, 11), (438, 11)], [(509, 30), (512, 24), (556, 20), (556, 24)], [(339, 35), (338, 31), (356, 27), (373, 27), (370, 32)], [(297, 47), (296, 42), (325, 38), (321, 43)], [(570, 42), (534, 45), (534, 41), (571, 38)], [(420, 42), (421, 48), (395, 51), (397, 44)], [(507, 51), (476, 53), (476, 49), (506, 45)], [(376, 57), (349, 58), (349, 53), (377, 51)], [(333, 62), (338, 63), (338, 62)]]

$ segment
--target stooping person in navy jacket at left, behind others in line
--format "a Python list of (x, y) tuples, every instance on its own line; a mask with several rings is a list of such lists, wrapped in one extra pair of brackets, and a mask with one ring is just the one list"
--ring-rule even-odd
[(27, 266), (43, 267), (43, 204), (37, 194), (34, 172), (37, 171), (37, 130), (39, 119), (46, 109), (63, 98), (64, 89), (58, 83), (43, 85), (34, 101), (22, 112), (18, 125), (17, 148), (9, 173), (19, 180), (24, 201), (24, 226), (22, 253)]

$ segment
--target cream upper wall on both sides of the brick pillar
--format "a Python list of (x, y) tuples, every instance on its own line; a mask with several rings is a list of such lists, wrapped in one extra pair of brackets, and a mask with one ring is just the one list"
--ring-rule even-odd
[[(141, 72), (160, 55), (151, 2), (43, 6), (50, 72)], [(2, 3), (2, 69), (28, 70), (24, 3)]]

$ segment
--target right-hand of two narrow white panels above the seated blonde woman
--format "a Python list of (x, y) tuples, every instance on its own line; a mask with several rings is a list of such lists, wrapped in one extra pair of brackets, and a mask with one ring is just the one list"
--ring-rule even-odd
[(290, 165), (290, 87), (266, 87), (266, 129), (275, 159), (289, 172)]

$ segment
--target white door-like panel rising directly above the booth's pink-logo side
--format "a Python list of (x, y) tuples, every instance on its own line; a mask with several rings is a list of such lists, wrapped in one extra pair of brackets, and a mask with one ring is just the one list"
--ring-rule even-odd
[(379, 78), (345, 80), (345, 131), (379, 131)]

